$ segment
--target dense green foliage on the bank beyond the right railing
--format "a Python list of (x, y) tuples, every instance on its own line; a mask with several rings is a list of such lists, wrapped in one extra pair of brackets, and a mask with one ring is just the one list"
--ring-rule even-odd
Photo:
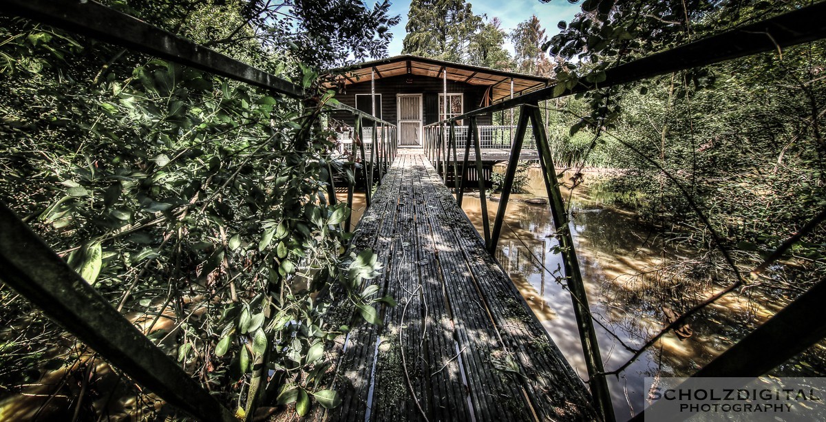
[[(618, 64), (805, 4), (586, 1), (546, 48), (558, 56), (562, 93), (600, 83)], [(823, 281), (822, 225), (766, 272), (743, 276), (826, 207), (824, 48), (818, 41), (558, 102), (556, 130), (594, 140), (577, 161), (621, 169), (611, 187), (634, 198), (623, 205), (703, 257), (690, 265), (675, 257), (662, 270), (665, 286), (634, 294), (669, 296), (686, 311), (709, 296), (705, 281), (781, 303)]]

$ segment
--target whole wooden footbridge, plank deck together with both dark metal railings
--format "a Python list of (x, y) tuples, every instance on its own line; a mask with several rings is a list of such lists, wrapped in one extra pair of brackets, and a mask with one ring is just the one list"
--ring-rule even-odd
[[(311, 92), (304, 88), (91, 0), (6, 0), (0, 10), (269, 92), (292, 98), (311, 97)], [(331, 371), (336, 375), (333, 387), (343, 403), (316, 412), (316, 418), (359, 422), (613, 420), (605, 370), (571, 235), (564, 230), (567, 217), (537, 102), (819, 40), (826, 37), (826, 24), (821, 19), (824, 13), (824, 3), (802, 7), (608, 69), (605, 82), (599, 87), (583, 82), (561, 87), (565, 89), (550, 86), (455, 116), (438, 124), (439, 130), (425, 143), (424, 153), (396, 149), (394, 126), (352, 107), (339, 106), (360, 117), (358, 130), (361, 119), (372, 121), (374, 128), (380, 125), (388, 129), (381, 130), (387, 135), (374, 143), (369, 158), (362, 145), (360, 159), (350, 164), (355, 170), (355, 161), (359, 162), (362, 171), (358, 173), (365, 186), (372, 187), (374, 180), (381, 186), (373, 197), (368, 190), (370, 206), (349, 248), (377, 252), (384, 268), (378, 285), (383, 293), (396, 298), (398, 306), (381, 310), (382, 325), (359, 325), (349, 334), (339, 336)], [(475, 116), (513, 107), (520, 107), (520, 121), (507, 156), (506, 183), (496, 221), (488, 230), (486, 220), (482, 239), (459, 207), (470, 163), (482, 173), (479, 136), (473, 135), (477, 126)], [(458, 121), (469, 123), (463, 159), (459, 158), (456, 142), (454, 125)], [(501, 219), (506, 213), (513, 174), (529, 126), (544, 168), (553, 220), (563, 228), (558, 230), (558, 238), (586, 354), (590, 392), (491, 254), (496, 250)], [(360, 137), (363, 139), (361, 134)], [(374, 135), (373, 139), (377, 137)], [(471, 146), (476, 152), (475, 160), (470, 157)], [(463, 175), (450, 183), (456, 200), (433, 164)], [(330, 197), (335, 197), (332, 183), (329, 188), (334, 193)], [(352, 192), (352, 185), (349, 190)], [(487, 216), (484, 209), (483, 215)], [(2, 203), (0, 270), (3, 282), (169, 404), (201, 420), (236, 420), (233, 412), (136, 330)], [(821, 283), (814, 287), (700, 374), (756, 377), (814, 344), (826, 333), (824, 307), (812, 305), (826, 296), (824, 286)], [(795, 320), (814, 322), (805, 326), (789, 323)], [(778, 325), (781, 330), (776, 328)], [(778, 342), (776, 338), (781, 332), (786, 339), (795, 341)], [(777, 349), (777, 344), (783, 344), (783, 348)], [(757, 356), (751, 353), (754, 349), (771, 353)]]

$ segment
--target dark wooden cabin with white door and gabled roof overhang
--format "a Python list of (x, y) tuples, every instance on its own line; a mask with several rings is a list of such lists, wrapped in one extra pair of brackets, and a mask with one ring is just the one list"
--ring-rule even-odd
[[(539, 76), (415, 55), (364, 62), (339, 72), (335, 83), (327, 84), (337, 89), (336, 99), (396, 125), (396, 142), (402, 146), (422, 145), (424, 126), (544, 88), (551, 82)], [(374, 104), (370, 102), (371, 94)], [(331, 117), (346, 126), (355, 124), (354, 116), (347, 112), (335, 112)], [(492, 116), (479, 116), (477, 123), (490, 132)]]

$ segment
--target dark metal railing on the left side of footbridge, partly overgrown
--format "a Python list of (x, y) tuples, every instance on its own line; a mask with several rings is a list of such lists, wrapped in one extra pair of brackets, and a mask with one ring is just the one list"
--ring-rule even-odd
[[(301, 100), (296, 107), (317, 107), (311, 92), (294, 83), (255, 69), (203, 45), (140, 21), (92, 0), (3, 0), (0, 12), (39, 21), (64, 31), (88, 36), (145, 53), (170, 62), (187, 65), (268, 92)], [(325, 105), (325, 111), (344, 110), (357, 116), (355, 133), (363, 139), (363, 121), (371, 140), (352, 143), (352, 156), (360, 153), (361, 163), (349, 162), (354, 175), (368, 187), (373, 179), (380, 183), (396, 156), (396, 126), (344, 104)], [(373, 135), (381, 126), (379, 135)], [(320, 127), (320, 126), (319, 126)], [(373, 148), (375, 145), (375, 148)], [(365, 153), (369, 151), (369, 154)], [(350, 178), (347, 178), (350, 181)], [(348, 206), (353, 207), (354, 184), (348, 183)], [(330, 204), (335, 203), (332, 174), (327, 185)], [(345, 230), (350, 230), (349, 219)], [(0, 276), (26, 300), (31, 301), (59, 325), (91, 346), (129, 377), (149, 388), (169, 404), (198, 420), (236, 421), (226, 409), (202, 388), (178, 363), (159, 349), (144, 333), (121, 315), (106, 298), (75, 273), (28, 225), (0, 202)]]

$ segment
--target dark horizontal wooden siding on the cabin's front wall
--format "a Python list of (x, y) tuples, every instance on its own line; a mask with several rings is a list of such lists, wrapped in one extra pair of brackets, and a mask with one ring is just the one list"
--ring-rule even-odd
[[(407, 83), (411, 78), (412, 82)], [(430, 78), (419, 75), (401, 75), (392, 78), (376, 79), (376, 93), (382, 94), (382, 118), (393, 123), (397, 122), (396, 94), (422, 94), (424, 107), (425, 125), (434, 123), (439, 118), (439, 93), (444, 92), (444, 81), (441, 78)], [(335, 98), (350, 107), (355, 107), (355, 94), (370, 93), (370, 79), (359, 81), (348, 85), (344, 92), (339, 92)], [(448, 80), (448, 92), (464, 94), (463, 112), (480, 108), (482, 97), (487, 87), (471, 85)], [(343, 121), (347, 125), (355, 124), (354, 117), (346, 111), (336, 111), (332, 117), (337, 121)], [(491, 125), (491, 115), (479, 116), (479, 125)]]

